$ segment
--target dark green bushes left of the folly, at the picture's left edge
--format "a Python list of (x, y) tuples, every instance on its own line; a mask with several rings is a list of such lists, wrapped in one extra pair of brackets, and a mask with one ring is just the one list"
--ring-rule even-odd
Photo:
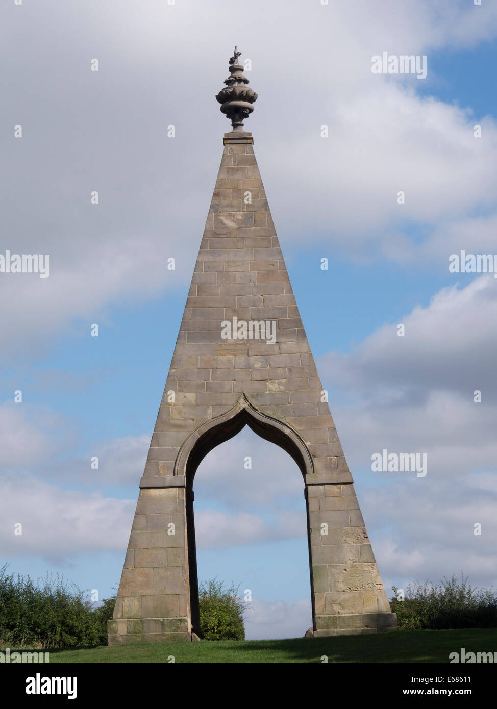
[(0, 645), (50, 649), (107, 644), (106, 621), (115, 598), (94, 609), (86, 594), (63, 577), (30, 576), (0, 569)]

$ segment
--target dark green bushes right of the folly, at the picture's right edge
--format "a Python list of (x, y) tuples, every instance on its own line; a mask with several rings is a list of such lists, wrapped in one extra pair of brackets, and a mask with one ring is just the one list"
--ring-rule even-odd
[[(398, 593), (397, 586), (392, 586)], [(404, 601), (391, 599), (400, 630), (455, 630), (469, 627), (497, 627), (497, 593), (469, 586), (461, 574), (438, 584), (425, 581), (408, 585)]]

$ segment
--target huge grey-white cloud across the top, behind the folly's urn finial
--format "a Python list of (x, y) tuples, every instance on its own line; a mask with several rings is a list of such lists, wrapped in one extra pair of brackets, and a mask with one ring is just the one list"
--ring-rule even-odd
[[(429, 257), (430, 229), (439, 240), (440, 220), (457, 229), (455, 218), (467, 220), (482, 205), (495, 210), (491, 118), (481, 121), (483, 137), (476, 140), (470, 112), (416, 96), (422, 82), (415, 77), (371, 72), (371, 57), (382, 50), (428, 52), (430, 62), (432, 49), (495, 36), (491, 4), (406, 0), (399, 8), (357, 0), (311, 8), (275, 0), (268, 8), (254, 0), (250, 13), (228, 0), (214, 9), (200, 1), (125, 7), (47, 0), (23, 16), (21, 35), (12, 27), (2, 47), (4, 62), (23, 56), (4, 105), (6, 120), (24, 127), (22, 140), (9, 138), (4, 146), (3, 245), (49, 252), (51, 260), (49, 279), (0, 279), (5, 357), (34, 342), (39, 356), (78, 318), (95, 322), (106, 318), (109, 305), (186, 287), (228, 128), (213, 96), (227, 74), (225, 38), (237, 18), (260, 96), (247, 127), (256, 135), (282, 242), (301, 245), (306, 233), (306, 244), (333, 243), (350, 257), (371, 250), (415, 263), (406, 221), (428, 225)], [(270, 18), (280, 27), (277, 50)], [(13, 23), (13, 13), (6, 22)], [(30, 43), (41, 24), (43, 37), (36, 33), (39, 41)], [(217, 57), (216, 47), (225, 47)], [(286, 65), (284, 82), (274, 74), (275, 54)], [(99, 72), (90, 72), (93, 55)], [(196, 106), (206, 107), (200, 112), (184, 101), (192, 80)], [(282, 130), (274, 116), (288, 104), (289, 86), (298, 101)], [(177, 127), (174, 139), (166, 135), (169, 123)], [(323, 123), (328, 140), (319, 137)], [(98, 206), (89, 203), (94, 189)], [(396, 204), (398, 190), (406, 191), (404, 206)], [(289, 199), (296, 194), (298, 200)], [(177, 258), (175, 272), (167, 271), (169, 256)]]

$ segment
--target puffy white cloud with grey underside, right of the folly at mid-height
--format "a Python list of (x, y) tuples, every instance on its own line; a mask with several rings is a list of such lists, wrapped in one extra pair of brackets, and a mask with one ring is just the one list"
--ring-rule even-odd
[[(457, 278), (463, 281), (465, 276)], [(384, 325), (350, 354), (322, 357), (321, 368), (336, 384), (407, 392), (406, 404), (437, 389), (468, 401), (481, 389), (488, 401), (496, 391), (496, 286), (491, 275), (462, 287), (456, 281), (435, 294), (429, 306), (416, 306), (402, 318), (404, 337), (397, 335), (398, 323)]]

